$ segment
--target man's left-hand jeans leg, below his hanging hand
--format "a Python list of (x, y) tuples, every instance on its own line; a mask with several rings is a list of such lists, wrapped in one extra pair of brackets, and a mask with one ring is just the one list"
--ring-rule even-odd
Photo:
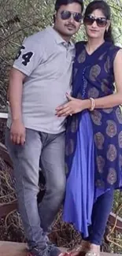
[(39, 193), (39, 158), (42, 143), (39, 132), (26, 129), (24, 146), (13, 145), (9, 139), (9, 129), (6, 130), (6, 146), (13, 160), (16, 178), (17, 198), (20, 216), (24, 224), (24, 232), (28, 239), (28, 246), (46, 247), (46, 237), (40, 228), (37, 195)]

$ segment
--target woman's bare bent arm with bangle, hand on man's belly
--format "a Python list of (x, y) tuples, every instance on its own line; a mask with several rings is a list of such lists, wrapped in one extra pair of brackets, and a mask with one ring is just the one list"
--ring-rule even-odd
[[(107, 109), (113, 106), (119, 106), (122, 104), (122, 50), (119, 50), (116, 54), (116, 58), (113, 62), (113, 72), (116, 83), (116, 93), (108, 95), (102, 98), (95, 98), (95, 109)], [(69, 100), (64, 106), (59, 106), (56, 109), (58, 117), (68, 116), (72, 113), (79, 113), (84, 109), (91, 109), (90, 99), (77, 99), (67, 95)]]

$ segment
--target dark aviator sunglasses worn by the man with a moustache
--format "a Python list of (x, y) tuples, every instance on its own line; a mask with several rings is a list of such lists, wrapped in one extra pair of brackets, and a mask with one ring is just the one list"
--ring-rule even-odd
[(62, 20), (68, 20), (70, 17), (73, 17), (73, 19), (76, 22), (80, 22), (82, 20), (82, 14), (81, 13), (72, 13), (67, 10), (64, 10), (61, 12), (61, 19)]

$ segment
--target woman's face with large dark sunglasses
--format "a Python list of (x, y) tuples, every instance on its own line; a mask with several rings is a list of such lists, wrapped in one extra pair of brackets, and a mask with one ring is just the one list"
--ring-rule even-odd
[(84, 18), (87, 37), (92, 39), (104, 39), (105, 30), (109, 29), (109, 24), (109, 20), (106, 20), (101, 9), (95, 9), (91, 15)]

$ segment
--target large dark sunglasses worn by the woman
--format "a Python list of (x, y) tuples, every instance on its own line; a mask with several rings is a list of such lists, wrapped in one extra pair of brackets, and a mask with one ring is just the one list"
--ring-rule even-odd
[(107, 24), (107, 19), (105, 17), (95, 18), (92, 15), (84, 17), (83, 24), (92, 25), (94, 21), (96, 21), (98, 27), (100, 28), (104, 28)]

